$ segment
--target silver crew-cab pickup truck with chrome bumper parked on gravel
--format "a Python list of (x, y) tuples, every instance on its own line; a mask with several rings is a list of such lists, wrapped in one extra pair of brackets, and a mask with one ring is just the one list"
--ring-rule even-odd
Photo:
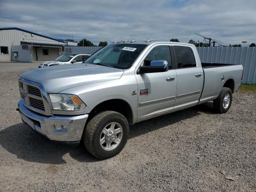
[(17, 110), (38, 134), (110, 158), (137, 122), (211, 100), (227, 112), (242, 74), (242, 65), (201, 63), (192, 44), (117, 43), (85, 63), (23, 73)]

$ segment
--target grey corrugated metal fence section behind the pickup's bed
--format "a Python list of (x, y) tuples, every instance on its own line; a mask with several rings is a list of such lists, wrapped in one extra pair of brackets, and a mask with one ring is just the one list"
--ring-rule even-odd
[(242, 83), (256, 84), (255, 47), (197, 47), (203, 63), (242, 64), (244, 77)]

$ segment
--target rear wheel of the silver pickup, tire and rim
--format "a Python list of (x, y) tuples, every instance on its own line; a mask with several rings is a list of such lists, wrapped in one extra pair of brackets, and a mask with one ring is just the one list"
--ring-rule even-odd
[[(225, 99), (229, 96), (229, 102)], [(225, 99), (225, 100), (224, 100)], [(228, 102), (228, 104), (227, 104)], [(232, 103), (232, 91), (230, 88), (223, 87), (220, 94), (216, 100), (213, 101), (213, 108), (217, 113), (226, 113)]]

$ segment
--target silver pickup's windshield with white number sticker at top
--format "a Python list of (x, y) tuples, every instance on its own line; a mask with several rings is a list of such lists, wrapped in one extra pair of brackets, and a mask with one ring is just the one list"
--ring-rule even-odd
[(146, 44), (111, 44), (98, 50), (85, 62), (128, 69), (146, 46)]

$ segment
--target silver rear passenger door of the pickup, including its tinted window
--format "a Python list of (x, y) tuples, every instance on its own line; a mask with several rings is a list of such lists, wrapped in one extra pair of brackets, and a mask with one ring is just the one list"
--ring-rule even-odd
[(172, 44), (177, 72), (177, 93), (174, 108), (198, 103), (204, 84), (203, 69), (196, 49), (190, 45)]

